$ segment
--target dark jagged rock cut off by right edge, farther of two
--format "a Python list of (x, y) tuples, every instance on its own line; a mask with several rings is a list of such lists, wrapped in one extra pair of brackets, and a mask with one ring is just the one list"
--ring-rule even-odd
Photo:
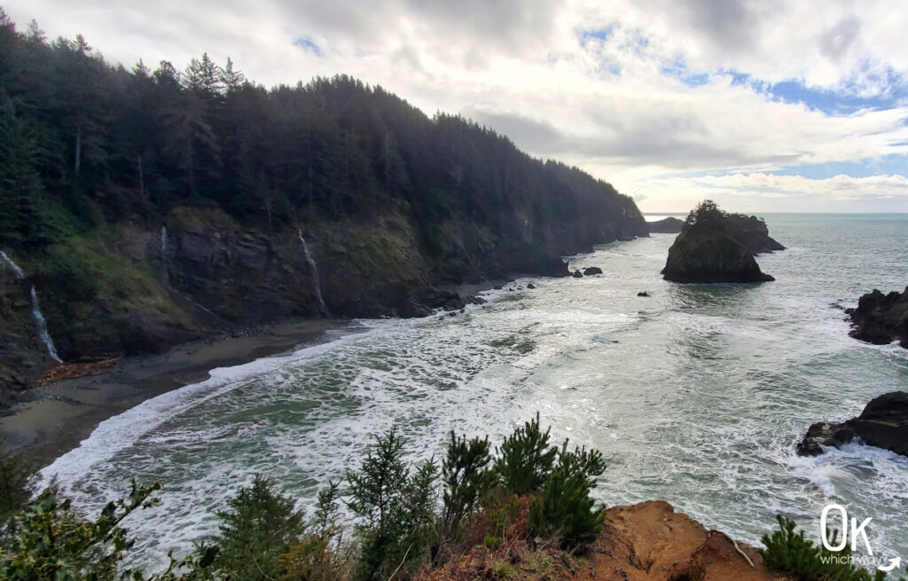
[(854, 339), (875, 345), (893, 341), (908, 349), (908, 287), (900, 294), (883, 294), (876, 289), (858, 300), (856, 309), (845, 310), (851, 317)]

